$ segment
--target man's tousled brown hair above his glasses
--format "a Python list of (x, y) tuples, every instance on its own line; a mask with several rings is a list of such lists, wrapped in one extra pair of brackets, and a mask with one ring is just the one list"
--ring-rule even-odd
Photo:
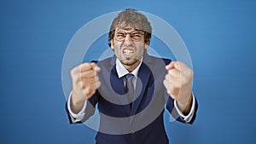
[(152, 27), (144, 14), (137, 12), (136, 9), (125, 9), (120, 12), (117, 17), (112, 21), (108, 32), (108, 45), (111, 46), (110, 41), (113, 39), (114, 31), (116, 28), (134, 28), (136, 30), (141, 30), (144, 33), (145, 43), (150, 43), (150, 38), (152, 34)]

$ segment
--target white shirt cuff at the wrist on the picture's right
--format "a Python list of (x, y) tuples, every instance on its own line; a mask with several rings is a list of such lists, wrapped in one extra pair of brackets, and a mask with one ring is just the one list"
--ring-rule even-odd
[(189, 122), (190, 122), (190, 120), (193, 118), (194, 113), (195, 113), (195, 96), (194, 96), (193, 93), (192, 93), (192, 96), (193, 96), (192, 107), (191, 107), (190, 112), (189, 112), (189, 114), (188, 114), (187, 116), (185, 116), (185, 115), (183, 114), (183, 112), (177, 107), (177, 101), (174, 100), (174, 107), (176, 108), (177, 113), (184, 119), (184, 121), (185, 121), (186, 123), (189, 123)]

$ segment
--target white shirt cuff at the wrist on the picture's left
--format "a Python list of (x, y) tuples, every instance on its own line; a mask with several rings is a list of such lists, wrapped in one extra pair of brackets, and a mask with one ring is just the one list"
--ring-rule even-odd
[(70, 92), (70, 95), (67, 100), (67, 110), (69, 112), (69, 115), (72, 118), (73, 123), (76, 123), (76, 122), (82, 121), (82, 119), (85, 116), (85, 108), (87, 106), (87, 100), (84, 101), (84, 106), (82, 107), (81, 111), (78, 113), (74, 113), (74, 112), (72, 112), (71, 107), (70, 107), (71, 95), (72, 95), (72, 92)]

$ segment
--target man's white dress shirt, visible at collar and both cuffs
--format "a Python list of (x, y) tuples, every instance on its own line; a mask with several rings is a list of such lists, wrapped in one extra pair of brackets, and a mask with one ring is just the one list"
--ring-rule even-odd
[[(142, 65), (142, 60), (141, 60), (140, 64), (136, 67), (136, 69), (134, 69), (131, 72), (135, 76), (135, 78), (132, 79), (133, 80), (132, 84), (134, 85), (134, 88), (136, 88), (137, 72), (138, 72), (140, 66)], [(118, 73), (119, 78), (122, 78), (126, 74), (130, 73), (130, 72), (128, 72), (126, 70), (125, 66), (123, 66), (118, 59), (116, 59), (116, 71)], [(70, 114), (70, 116), (72, 118), (73, 123), (75, 123), (75, 122), (81, 121), (84, 118), (84, 116), (85, 116), (85, 108), (86, 108), (86, 105), (87, 105), (87, 100), (84, 101), (84, 106), (82, 107), (81, 111), (78, 112), (78, 113), (74, 113), (74, 112), (72, 112), (71, 107), (70, 107), (71, 95), (72, 95), (72, 92), (70, 93), (70, 95), (68, 97), (68, 100), (67, 100), (67, 109), (68, 109), (68, 112), (69, 112), (69, 114)], [(181, 117), (183, 117), (184, 121), (186, 123), (189, 123), (190, 120), (193, 118), (193, 115), (195, 113), (195, 97), (194, 97), (194, 95), (193, 95), (192, 107), (191, 107), (191, 110), (190, 110), (190, 112), (189, 112), (189, 114), (187, 116), (184, 116), (183, 112), (181, 110), (179, 110), (179, 108), (177, 107), (177, 101), (174, 101), (174, 107), (176, 108), (178, 114)]]

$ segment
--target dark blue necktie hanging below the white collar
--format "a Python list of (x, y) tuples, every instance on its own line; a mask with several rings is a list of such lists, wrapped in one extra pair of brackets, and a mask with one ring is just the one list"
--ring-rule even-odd
[(126, 90), (128, 101), (130, 103), (130, 107), (131, 107), (131, 102), (133, 101), (133, 95), (134, 95), (134, 85), (132, 83), (132, 79), (134, 78), (134, 75), (131, 73), (128, 73), (126, 74), (125, 78), (126, 78), (125, 90)]

